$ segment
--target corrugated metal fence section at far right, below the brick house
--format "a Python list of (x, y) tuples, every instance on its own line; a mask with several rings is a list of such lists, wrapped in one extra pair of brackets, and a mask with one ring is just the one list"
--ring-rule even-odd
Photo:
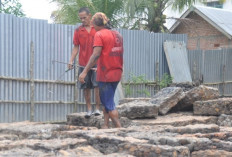
[(232, 96), (232, 49), (188, 52), (194, 82), (216, 87), (222, 96)]

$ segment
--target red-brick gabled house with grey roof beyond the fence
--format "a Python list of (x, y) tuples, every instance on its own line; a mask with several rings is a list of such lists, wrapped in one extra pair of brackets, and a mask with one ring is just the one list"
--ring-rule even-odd
[(190, 50), (232, 48), (232, 10), (193, 6), (169, 29), (187, 34)]

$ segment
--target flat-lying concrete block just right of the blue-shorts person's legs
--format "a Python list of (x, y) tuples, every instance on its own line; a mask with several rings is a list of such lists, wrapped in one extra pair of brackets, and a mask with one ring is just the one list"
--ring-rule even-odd
[(129, 119), (155, 118), (158, 116), (158, 108), (149, 101), (136, 100), (117, 106), (120, 117)]

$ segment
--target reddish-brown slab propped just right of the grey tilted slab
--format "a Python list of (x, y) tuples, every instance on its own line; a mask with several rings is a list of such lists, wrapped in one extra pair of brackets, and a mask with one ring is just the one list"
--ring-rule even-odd
[(219, 98), (217, 88), (200, 85), (185, 92), (184, 98), (174, 107), (174, 111), (192, 110), (195, 101), (205, 101)]

